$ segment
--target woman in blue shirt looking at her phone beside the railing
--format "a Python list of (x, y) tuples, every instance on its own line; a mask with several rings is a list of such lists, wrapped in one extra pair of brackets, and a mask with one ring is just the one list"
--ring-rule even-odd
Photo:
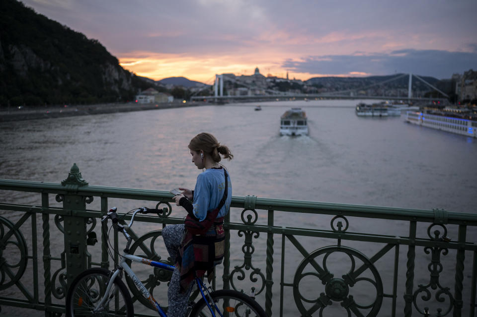
[[(206, 132), (192, 138), (188, 147), (192, 163), (205, 171), (197, 177), (194, 190), (179, 188), (182, 194), (172, 198), (176, 205), (187, 211), (186, 225), (169, 225), (162, 230), (167, 251), (176, 264), (167, 292), (167, 316), (174, 317), (185, 316), (195, 276), (202, 277), (206, 271), (210, 276), (213, 267), (222, 261), (222, 224), (232, 200), (229, 173), (219, 164), (221, 154), (229, 161), (234, 157), (229, 148)], [(196, 228), (201, 229), (200, 234), (197, 234)], [(194, 248), (200, 248), (201, 254), (194, 253)], [(213, 258), (214, 261), (204, 258)]]

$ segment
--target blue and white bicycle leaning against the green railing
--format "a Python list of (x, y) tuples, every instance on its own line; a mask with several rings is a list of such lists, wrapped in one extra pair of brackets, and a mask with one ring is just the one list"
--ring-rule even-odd
[[(134, 316), (134, 306), (128, 288), (122, 281), (123, 271), (134, 281), (140, 293), (157, 309), (159, 316), (167, 317), (166, 312), (160, 307), (158, 302), (149, 293), (147, 288), (136, 276), (127, 260), (142, 264), (159, 267), (160, 269), (173, 271), (174, 266), (162, 262), (153, 261), (147, 258), (129, 254), (132, 238), (126, 232), (131, 228), (136, 214), (158, 213), (158, 209), (146, 207), (131, 210), (133, 215), (129, 225), (118, 223), (117, 208), (109, 209), (107, 215), (101, 218), (101, 222), (111, 219), (113, 227), (121, 232), (127, 239), (126, 248), (121, 254), (119, 265), (114, 271), (104, 268), (90, 268), (81, 272), (72, 282), (66, 298), (66, 313), (70, 317), (79, 316)], [(189, 308), (190, 317), (211, 316), (211, 317), (239, 317), (254, 316), (265, 317), (265, 312), (258, 303), (251, 297), (235, 290), (212, 291), (206, 287), (204, 282), (197, 278), (195, 284), (200, 291), (201, 299)]]

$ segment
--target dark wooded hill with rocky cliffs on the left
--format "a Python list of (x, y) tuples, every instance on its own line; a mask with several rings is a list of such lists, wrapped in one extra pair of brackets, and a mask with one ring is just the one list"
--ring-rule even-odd
[(0, 1), (0, 106), (127, 101), (150, 86), (97, 40)]

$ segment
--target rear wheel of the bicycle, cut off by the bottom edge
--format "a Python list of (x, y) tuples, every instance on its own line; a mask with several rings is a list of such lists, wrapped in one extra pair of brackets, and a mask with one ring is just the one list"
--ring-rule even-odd
[[(210, 293), (210, 296), (217, 304), (224, 317), (266, 317), (265, 311), (251, 297), (234, 290), (219, 290)], [(229, 301), (227, 309), (224, 308), (225, 301)], [(204, 298), (201, 298), (194, 307), (189, 317), (212, 316)]]

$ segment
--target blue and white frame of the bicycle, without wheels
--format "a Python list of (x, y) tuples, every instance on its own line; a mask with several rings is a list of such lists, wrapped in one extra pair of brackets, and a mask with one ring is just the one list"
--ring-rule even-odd
[[(159, 303), (154, 299), (154, 297), (152, 296), (151, 293), (149, 293), (149, 291), (147, 290), (146, 286), (144, 286), (144, 284), (141, 282), (141, 280), (136, 276), (136, 274), (133, 272), (133, 270), (131, 269), (131, 267), (126, 263), (126, 260), (131, 260), (131, 261), (134, 261), (134, 262), (139, 262), (139, 263), (142, 263), (142, 264), (147, 264), (147, 265), (150, 265), (150, 266), (154, 266), (154, 267), (159, 267), (161, 269), (165, 269), (165, 270), (168, 270), (168, 271), (173, 271), (175, 269), (175, 266), (174, 265), (169, 265), (169, 264), (166, 264), (166, 263), (162, 263), (162, 262), (157, 262), (157, 261), (153, 261), (153, 260), (150, 260), (148, 258), (144, 258), (144, 257), (140, 257), (140, 256), (136, 256), (136, 255), (133, 255), (133, 254), (128, 254), (126, 251), (129, 249), (129, 244), (131, 242), (131, 237), (129, 236), (129, 234), (126, 232), (126, 227), (131, 227), (132, 226), (132, 223), (133, 223), (133, 220), (134, 220), (134, 216), (136, 215), (136, 213), (138, 212), (138, 210), (136, 210), (131, 218), (131, 222), (129, 223), (129, 226), (122, 226), (122, 230), (121, 232), (123, 233), (123, 235), (126, 237), (126, 239), (128, 240), (128, 244), (127, 244), (127, 247), (125, 249), (125, 251), (123, 252), (123, 254), (121, 254), (121, 261), (119, 262), (119, 267), (114, 271), (114, 273), (111, 275), (111, 278), (109, 279), (109, 282), (108, 282), (108, 286), (106, 287), (106, 291), (104, 292), (104, 295), (101, 299), (101, 301), (99, 302), (99, 304), (97, 305), (97, 308), (99, 309), (100, 307), (103, 307), (103, 305), (106, 303), (106, 301), (108, 300), (109, 298), (109, 294), (110, 294), (110, 291), (111, 291), (111, 288), (113, 286), (113, 281), (115, 280), (115, 278), (121, 273), (121, 268), (126, 272), (126, 274), (128, 274), (128, 276), (132, 279), (132, 281), (134, 282), (134, 284), (136, 285), (136, 287), (138, 288), (138, 290), (143, 294), (143, 296), (149, 300), (149, 302), (151, 304), (153, 304), (154, 307), (156, 307), (158, 313), (159, 313), (159, 316), (160, 317), (167, 317), (167, 315), (165, 314), (165, 312), (162, 310), (162, 308), (160, 307)], [(197, 287), (199, 288), (200, 290), (200, 294), (202, 295), (202, 298), (204, 298), (205, 302), (207, 303), (207, 307), (209, 308), (210, 312), (212, 313), (212, 316), (213, 317), (216, 317), (215, 313), (214, 313), (214, 309), (219, 313), (219, 315), (221, 317), (223, 317), (222, 313), (220, 313), (217, 305), (215, 303), (212, 303), (213, 306), (214, 306), (214, 309), (212, 309), (211, 305), (210, 305), (210, 302), (207, 300), (206, 298), (206, 295), (204, 293), (204, 290), (207, 294), (209, 294), (209, 291), (207, 290), (207, 288), (204, 286), (202, 280), (198, 277), (195, 278), (195, 282), (197, 284)], [(210, 298), (210, 297), (209, 297)]]

